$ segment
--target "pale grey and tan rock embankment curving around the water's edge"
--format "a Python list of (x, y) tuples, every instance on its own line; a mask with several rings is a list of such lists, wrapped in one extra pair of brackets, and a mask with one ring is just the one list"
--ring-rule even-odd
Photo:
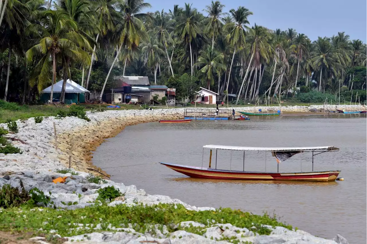
[[(256, 107), (258, 110), (267, 110), (268, 107)], [(272, 107), (277, 110), (277, 107)], [(323, 108), (323, 106), (294, 106), (282, 107), (282, 111), (304, 112), (310, 108)], [(356, 109), (354, 106), (348, 106), (348, 110)], [(252, 111), (254, 107), (236, 107), (236, 111)], [(335, 108), (334, 108), (335, 109)], [(360, 106), (359, 106), (360, 109)], [(98, 197), (98, 189), (106, 186), (114, 186), (124, 194), (123, 198), (110, 202), (109, 206), (119, 204), (135, 205), (147, 204), (155, 205), (159, 203), (182, 204), (188, 210), (205, 211), (214, 210), (211, 207), (195, 207), (183, 203), (178, 199), (171, 199), (168, 196), (148, 195), (144, 190), (138, 190), (136, 186), (125, 186), (122, 183), (105, 181), (101, 184), (88, 183), (86, 177), (88, 173), (96, 173), (88, 169), (101, 169), (93, 166), (90, 162), (91, 151), (100, 145), (105, 138), (115, 136), (125, 126), (158, 121), (159, 119), (179, 119), (183, 117), (183, 108), (157, 109), (157, 110), (118, 110), (91, 113), (87, 116), (91, 119), (87, 122), (75, 117), (66, 117), (55, 119), (54, 117), (44, 118), (43, 122), (35, 123), (33, 118), (25, 122), (17, 121), (19, 132), (8, 134), (7, 137), (16, 138), (12, 144), (21, 148), (22, 154), (0, 154), (0, 187), (4, 184), (10, 184), (14, 187), (20, 187), (22, 181), (26, 190), (34, 187), (39, 188), (50, 195), (55, 207), (63, 209), (77, 209), (91, 206)], [(55, 149), (55, 122), (57, 130), (58, 149)], [(6, 124), (0, 124), (0, 127), (7, 128)], [(68, 167), (69, 157), (71, 156), (71, 165), (78, 175), (70, 173), (57, 173), (58, 170)], [(102, 171), (102, 173), (104, 173)], [(56, 177), (65, 177), (64, 184), (54, 184), (52, 180)], [(65, 204), (72, 202), (73, 204)], [(189, 233), (180, 230), (180, 233), (164, 233), (162, 235), (149, 233), (135, 233), (130, 226), (111, 230), (112, 232), (100, 232), (98, 228), (94, 233), (88, 233), (81, 236), (66, 237), (70, 243), (71, 240), (82, 241), (81, 243), (142, 243), (144, 241), (156, 243), (228, 243), (222, 240), (222, 237), (238, 240), (242, 243), (348, 243), (343, 237), (337, 236), (334, 240), (326, 240), (312, 236), (301, 230), (288, 230), (283, 227), (273, 228), (270, 235), (258, 235), (256, 231), (240, 229), (235, 226), (221, 228), (215, 225), (202, 226), (201, 223), (181, 223), (182, 225), (191, 224), (200, 225), (204, 229), (203, 235)], [(199, 227), (198, 227), (199, 228)], [(122, 231), (122, 232), (121, 232)], [(34, 241), (44, 241), (41, 237), (33, 239)]]

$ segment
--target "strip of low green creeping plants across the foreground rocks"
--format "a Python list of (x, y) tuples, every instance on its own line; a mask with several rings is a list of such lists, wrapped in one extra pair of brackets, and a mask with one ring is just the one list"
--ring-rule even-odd
[[(42, 211), (42, 212), (40, 212)], [(177, 224), (182, 221), (195, 221), (208, 226), (215, 223), (230, 223), (239, 228), (251, 229), (255, 226), (255, 232), (270, 234), (271, 230), (262, 225), (283, 226), (292, 229), (292, 226), (278, 222), (275, 217), (269, 215), (254, 215), (249, 212), (222, 208), (215, 211), (190, 211), (182, 205), (158, 204), (154, 206), (126, 206), (118, 205), (109, 207), (106, 204), (76, 210), (57, 210), (53, 208), (29, 207), (8, 208), (0, 212), (0, 231), (13, 231), (19, 233), (33, 232), (37, 234), (54, 234), (61, 236), (74, 236), (95, 232), (96, 225), (101, 224), (102, 230), (110, 228), (127, 228), (131, 223), (137, 232), (145, 233), (153, 231), (152, 225), (158, 224), (160, 228), (167, 226), (169, 232), (186, 230), (203, 234), (204, 228), (180, 227)], [(81, 228), (76, 224), (83, 224)], [(86, 228), (88, 227), (88, 228)], [(89, 229), (91, 228), (91, 229)], [(252, 230), (252, 229), (251, 229)]]

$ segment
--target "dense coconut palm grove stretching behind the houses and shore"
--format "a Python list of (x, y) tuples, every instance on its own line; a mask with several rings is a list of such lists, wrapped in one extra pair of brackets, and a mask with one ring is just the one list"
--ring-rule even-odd
[(200, 85), (222, 99), (236, 94), (236, 103), (303, 86), (333, 95), (367, 86), (362, 41), (344, 32), (310, 41), (294, 29), (251, 26), (253, 13), (242, 6), (225, 13), (219, 1), (202, 12), (192, 4), (149, 12), (143, 0), (0, 3), (4, 100), (34, 101), (41, 89), (68, 78), (102, 97), (115, 75), (149, 76), (177, 88), (182, 99)]

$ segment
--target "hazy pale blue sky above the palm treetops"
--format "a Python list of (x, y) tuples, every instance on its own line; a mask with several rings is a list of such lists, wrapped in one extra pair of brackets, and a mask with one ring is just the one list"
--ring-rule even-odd
[[(146, 0), (152, 4), (148, 11), (162, 10), (168, 12), (174, 4), (180, 7), (186, 3), (201, 11), (210, 0), (185, 1), (185, 0)], [(269, 29), (288, 28), (295, 29), (298, 33), (306, 34), (312, 41), (318, 36), (331, 37), (338, 32), (349, 34), (351, 39), (360, 39), (367, 42), (367, 1), (366, 0), (227, 0), (221, 1), (225, 11), (238, 6), (248, 8), (254, 13), (249, 18), (250, 26), (265, 26)]]

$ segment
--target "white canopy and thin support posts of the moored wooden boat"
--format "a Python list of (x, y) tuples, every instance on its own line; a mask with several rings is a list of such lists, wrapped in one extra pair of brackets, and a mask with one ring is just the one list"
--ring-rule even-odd
[[(245, 171), (245, 151), (265, 152), (265, 172), (266, 172), (266, 152), (271, 152), (273, 156), (275, 156), (276, 152), (299, 152), (301, 153), (301, 172), (302, 172), (302, 153), (312, 152), (312, 171), (313, 171), (313, 157), (314, 156), (322, 154), (324, 152), (339, 151), (339, 148), (334, 147), (334, 146), (287, 148), (287, 147), (239, 147), (239, 146), (225, 146), (225, 145), (204, 145), (203, 155), (201, 158), (201, 169), (203, 169), (204, 149), (210, 149), (209, 168), (211, 168), (212, 150), (215, 150), (215, 169), (217, 169), (218, 150), (230, 151), (231, 154), (230, 154), (229, 170), (231, 170), (231, 166), (232, 166), (232, 151), (243, 151), (243, 171)], [(318, 153), (314, 154), (314, 152), (318, 152)], [(277, 171), (279, 173), (279, 163), (277, 164)]]

